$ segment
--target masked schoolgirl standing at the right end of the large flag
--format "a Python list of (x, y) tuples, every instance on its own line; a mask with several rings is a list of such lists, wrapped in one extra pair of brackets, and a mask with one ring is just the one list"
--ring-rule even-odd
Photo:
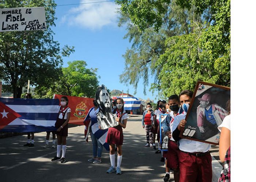
[[(52, 159), (52, 162), (60, 161), (60, 163), (65, 163), (65, 153), (67, 148), (66, 138), (68, 136), (68, 122), (70, 118), (71, 109), (68, 107), (68, 98), (66, 96), (61, 97), (60, 102), (59, 117), (55, 123), (57, 128), (57, 156)], [(60, 158), (60, 151), (62, 147), (62, 157)]]

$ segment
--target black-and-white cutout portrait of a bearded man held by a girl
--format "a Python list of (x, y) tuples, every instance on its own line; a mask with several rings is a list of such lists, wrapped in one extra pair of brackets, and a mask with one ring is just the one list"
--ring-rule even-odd
[(99, 104), (99, 112), (97, 114), (98, 124), (101, 129), (107, 129), (118, 125), (116, 114), (112, 114), (112, 103), (110, 95), (105, 85), (101, 85), (96, 91), (96, 102)]

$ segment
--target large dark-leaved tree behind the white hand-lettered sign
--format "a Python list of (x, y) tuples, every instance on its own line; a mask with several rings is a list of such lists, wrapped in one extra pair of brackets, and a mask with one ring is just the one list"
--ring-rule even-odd
[(59, 78), (62, 56), (74, 52), (74, 47), (60, 48), (53, 40), (56, 4), (53, 0), (5, 0), (0, 8), (45, 7), (46, 31), (16, 31), (0, 33), (0, 79), (5, 91), (20, 98), (22, 87), (31, 85), (47, 87)]

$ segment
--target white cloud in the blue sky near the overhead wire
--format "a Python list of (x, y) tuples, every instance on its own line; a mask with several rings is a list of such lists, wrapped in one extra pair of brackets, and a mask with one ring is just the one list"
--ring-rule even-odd
[[(80, 3), (97, 2), (100, 0), (81, 0)], [(114, 2), (80, 4), (71, 8), (67, 15), (61, 17), (60, 23), (88, 29), (101, 29), (105, 25), (117, 25), (117, 9)]]

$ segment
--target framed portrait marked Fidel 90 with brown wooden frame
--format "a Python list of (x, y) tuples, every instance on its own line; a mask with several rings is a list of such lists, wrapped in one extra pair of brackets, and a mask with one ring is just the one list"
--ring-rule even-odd
[(218, 145), (218, 126), (229, 115), (229, 108), (229, 87), (197, 82), (180, 137)]

